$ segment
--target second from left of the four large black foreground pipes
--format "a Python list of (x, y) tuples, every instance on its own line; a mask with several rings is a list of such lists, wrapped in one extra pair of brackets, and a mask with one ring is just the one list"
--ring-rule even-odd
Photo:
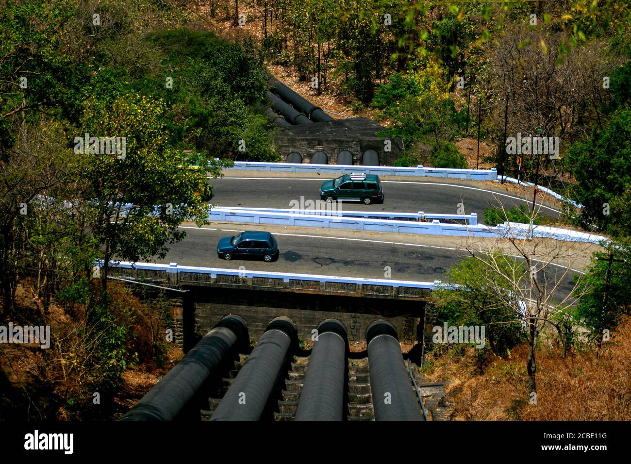
[(271, 321), (211, 420), (261, 419), (274, 387), (286, 369), (290, 348), (296, 344), (297, 331), (291, 319), (281, 317)]

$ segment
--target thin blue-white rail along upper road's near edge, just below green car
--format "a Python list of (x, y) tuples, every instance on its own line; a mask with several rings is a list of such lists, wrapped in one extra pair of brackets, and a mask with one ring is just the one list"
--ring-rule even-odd
[[(324, 203), (324, 202), (323, 202)], [(435, 214), (425, 213), (418, 211), (418, 213), (388, 213), (384, 211), (347, 211), (336, 209), (339, 206), (335, 203), (328, 203), (331, 206), (331, 210), (294, 210), (290, 208), (248, 208), (247, 206), (215, 206), (214, 210), (240, 210), (240, 211), (254, 211), (261, 213), (285, 213), (285, 214), (300, 214), (311, 216), (331, 216), (331, 217), (359, 217), (359, 218), (379, 218), (397, 220), (404, 218), (403, 220), (432, 220), (432, 219), (444, 219), (444, 220), (460, 220), (468, 223), (469, 225), (477, 225), (478, 215), (477, 213), (471, 214)]]

